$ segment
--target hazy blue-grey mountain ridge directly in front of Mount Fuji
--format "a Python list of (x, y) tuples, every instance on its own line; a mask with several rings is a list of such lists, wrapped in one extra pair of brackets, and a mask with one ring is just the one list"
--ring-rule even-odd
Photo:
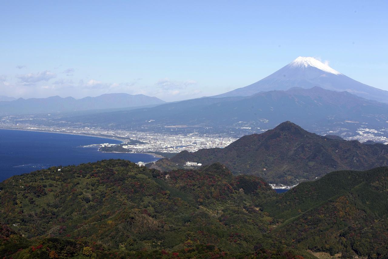
[(313, 129), (315, 124), (326, 127), (345, 121), (386, 126), (387, 114), (388, 104), (348, 92), (320, 87), (294, 87), (287, 91), (268, 91), (247, 97), (198, 98), (152, 108), (73, 116), (59, 121), (105, 124), (112, 128), (138, 126), (145, 129), (171, 125), (215, 129), (239, 128), (244, 125), (258, 131), (258, 128), (273, 128), (288, 120), (307, 129)]

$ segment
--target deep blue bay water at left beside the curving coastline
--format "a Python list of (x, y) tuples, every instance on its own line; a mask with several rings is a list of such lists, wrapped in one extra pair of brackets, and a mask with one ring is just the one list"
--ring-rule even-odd
[(126, 159), (134, 163), (157, 160), (147, 154), (104, 153), (91, 144), (119, 144), (118, 140), (80, 135), (0, 129), (0, 182), (12, 175), (50, 166), (79, 165), (102, 159)]

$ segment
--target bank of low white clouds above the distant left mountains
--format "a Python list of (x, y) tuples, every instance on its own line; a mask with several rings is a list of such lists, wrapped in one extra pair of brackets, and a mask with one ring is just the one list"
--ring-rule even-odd
[[(45, 70), (39, 73), (17, 75), (16, 80), (7, 80), (0, 76), (0, 90), (4, 94), (15, 97), (48, 97), (59, 95), (62, 97), (73, 96), (83, 98), (85, 96), (98, 96), (105, 93), (145, 94), (156, 96), (166, 101), (176, 101), (200, 97), (201, 91), (197, 89), (195, 80), (170, 80), (160, 79), (154, 84), (140, 84), (143, 79), (135, 78), (129, 82), (104, 82), (96, 78), (71, 80), (66, 72), (72, 72), (71, 68), (62, 70), (62, 77)], [(66, 75), (65, 75), (66, 74)], [(52, 80), (54, 79), (55, 80)], [(12, 79), (12, 78), (11, 78)]]

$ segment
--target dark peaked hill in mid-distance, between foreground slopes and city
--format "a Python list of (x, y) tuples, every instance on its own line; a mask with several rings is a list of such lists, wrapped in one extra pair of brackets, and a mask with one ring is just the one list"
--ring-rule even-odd
[(186, 161), (203, 165), (219, 162), (235, 174), (253, 174), (270, 183), (293, 184), (334, 170), (386, 166), (388, 145), (323, 137), (287, 121), (265, 133), (244, 136), (223, 149), (182, 151), (155, 166), (166, 170), (168, 165), (183, 165)]

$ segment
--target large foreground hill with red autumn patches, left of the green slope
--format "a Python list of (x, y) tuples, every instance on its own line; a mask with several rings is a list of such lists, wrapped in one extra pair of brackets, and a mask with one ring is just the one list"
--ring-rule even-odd
[(5, 258), (313, 258), (269, 235), (275, 192), (214, 164), (168, 174), (129, 161), (52, 167), (0, 183)]

